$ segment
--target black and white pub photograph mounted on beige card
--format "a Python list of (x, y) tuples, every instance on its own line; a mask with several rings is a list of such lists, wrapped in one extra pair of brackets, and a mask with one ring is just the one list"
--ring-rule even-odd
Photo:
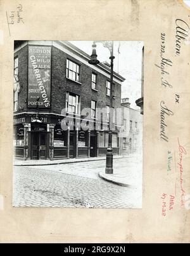
[(15, 41), (13, 206), (142, 208), (143, 41)]

